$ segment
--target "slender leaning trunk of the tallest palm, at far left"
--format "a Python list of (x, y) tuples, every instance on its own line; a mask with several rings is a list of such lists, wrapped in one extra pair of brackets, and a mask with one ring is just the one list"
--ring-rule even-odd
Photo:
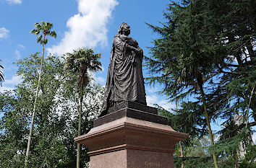
[(43, 53), (42, 53), (41, 63), (40, 63), (40, 73), (39, 73), (39, 76), (38, 76), (38, 86), (36, 87), (36, 93), (35, 93), (35, 102), (34, 102), (33, 114), (32, 114), (31, 125), (30, 125), (30, 134), (28, 136), (28, 141), (27, 141), (27, 151), (26, 151), (26, 156), (25, 156), (25, 167), (27, 167), (28, 156), (30, 154), (30, 144), (31, 144), (31, 138), (32, 138), (32, 134), (33, 134), (36, 102), (38, 100), (38, 92), (39, 92), (39, 86), (40, 86), (42, 70), (43, 70), (43, 55), (44, 55), (44, 41), (45, 41), (45, 39), (46, 39), (46, 34), (43, 35)]

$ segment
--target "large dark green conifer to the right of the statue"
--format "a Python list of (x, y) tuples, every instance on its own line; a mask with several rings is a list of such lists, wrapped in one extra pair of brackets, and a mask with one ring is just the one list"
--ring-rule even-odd
[[(205, 130), (207, 119), (202, 112), (204, 95), (211, 122), (223, 121), (221, 139), (210, 148), (218, 154), (219, 167), (224, 163), (234, 167), (239, 143), (248, 144), (249, 128), (256, 125), (255, 5), (253, 0), (171, 1), (162, 27), (148, 24), (159, 35), (150, 48), (152, 56), (145, 58), (152, 74), (148, 83), (161, 84), (161, 94), (170, 101), (189, 98), (175, 115), (161, 114), (177, 131), (200, 137), (205, 132), (197, 128)], [(236, 115), (242, 116), (241, 125), (234, 124)], [(185, 167), (193, 167), (198, 160), (193, 159)], [(200, 159), (197, 167), (205, 167), (198, 166), (200, 162), (210, 167), (207, 160)]]

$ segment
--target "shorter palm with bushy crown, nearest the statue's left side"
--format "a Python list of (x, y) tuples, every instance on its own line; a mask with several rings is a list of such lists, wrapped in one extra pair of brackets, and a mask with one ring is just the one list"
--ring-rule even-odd
[[(78, 136), (81, 136), (81, 120), (82, 120), (82, 97), (83, 89), (89, 83), (88, 71), (101, 70), (100, 53), (94, 54), (92, 49), (78, 48), (74, 53), (67, 53), (66, 68), (73, 74), (79, 74), (77, 84), (80, 87), (80, 105), (78, 120)], [(77, 143), (77, 168), (80, 167), (80, 143)]]

